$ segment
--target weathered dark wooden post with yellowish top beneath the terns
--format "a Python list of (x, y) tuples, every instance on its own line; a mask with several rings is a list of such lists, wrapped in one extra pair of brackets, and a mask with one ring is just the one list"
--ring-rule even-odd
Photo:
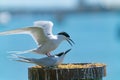
[(28, 68), (29, 80), (102, 80), (106, 65), (100, 63), (61, 64), (57, 68)]

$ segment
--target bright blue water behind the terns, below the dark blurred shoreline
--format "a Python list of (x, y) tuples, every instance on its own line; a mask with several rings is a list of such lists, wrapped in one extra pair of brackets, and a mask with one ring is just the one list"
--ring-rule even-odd
[[(119, 18), (116, 12), (67, 14), (62, 22), (51, 14), (12, 15), (8, 24), (0, 26), (0, 31), (31, 26), (36, 20), (51, 20), (54, 22), (54, 34), (66, 31), (76, 43), (66, 55), (64, 63), (105, 63), (107, 76), (104, 80), (117, 80), (120, 74)], [(0, 45), (0, 80), (28, 80), (27, 69), (33, 65), (10, 60), (7, 52), (35, 48), (33, 39), (28, 35), (0, 36)], [(52, 54), (69, 48), (71, 46), (64, 41)], [(42, 57), (35, 54), (24, 56)]]

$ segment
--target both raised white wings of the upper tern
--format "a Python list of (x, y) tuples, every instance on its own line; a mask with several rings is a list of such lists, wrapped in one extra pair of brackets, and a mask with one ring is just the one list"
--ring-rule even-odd
[(52, 35), (53, 23), (51, 21), (35, 21), (34, 27), (26, 27), (6, 32), (0, 32), (0, 35), (11, 34), (29, 34), (35, 40), (37, 45), (44, 44), (50, 35)]

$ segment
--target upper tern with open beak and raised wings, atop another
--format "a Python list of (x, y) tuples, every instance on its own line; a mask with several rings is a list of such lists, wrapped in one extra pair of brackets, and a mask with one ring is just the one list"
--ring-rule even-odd
[(32, 27), (0, 32), (0, 35), (29, 34), (32, 36), (38, 47), (35, 49), (18, 52), (18, 54), (32, 52), (50, 56), (50, 52), (55, 50), (63, 40), (67, 40), (70, 45), (72, 45), (71, 42), (74, 43), (66, 32), (53, 35), (52, 27), (53, 23), (51, 21), (35, 21), (34, 26)]

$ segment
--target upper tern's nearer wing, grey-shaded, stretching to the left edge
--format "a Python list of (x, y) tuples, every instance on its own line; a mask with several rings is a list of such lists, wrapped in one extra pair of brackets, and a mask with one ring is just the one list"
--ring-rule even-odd
[(38, 45), (43, 44), (47, 40), (47, 37), (44, 34), (44, 30), (41, 27), (26, 27), (6, 32), (0, 32), (0, 35), (12, 35), (12, 34), (29, 34), (33, 37), (33, 39)]

